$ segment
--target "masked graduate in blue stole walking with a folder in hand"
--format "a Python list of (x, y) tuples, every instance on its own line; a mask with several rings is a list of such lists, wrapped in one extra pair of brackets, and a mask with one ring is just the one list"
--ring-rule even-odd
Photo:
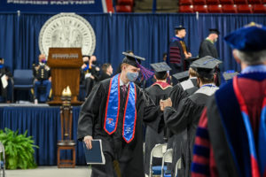
[[(126, 58), (123, 59), (121, 73), (100, 81), (82, 104), (77, 137), (89, 149), (93, 148), (92, 139), (101, 139), (106, 158), (105, 165), (92, 165), (92, 177), (113, 176), (113, 160), (118, 161), (121, 176), (144, 177), (143, 123), (158, 131), (161, 125), (163, 127), (160, 106), (155, 106), (151, 98), (134, 84), (140, 71), (139, 63), (145, 58), (123, 54)], [(113, 102), (113, 99), (118, 101)], [(114, 113), (111, 114), (110, 110)], [(129, 110), (135, 113), (129, 114)]]

